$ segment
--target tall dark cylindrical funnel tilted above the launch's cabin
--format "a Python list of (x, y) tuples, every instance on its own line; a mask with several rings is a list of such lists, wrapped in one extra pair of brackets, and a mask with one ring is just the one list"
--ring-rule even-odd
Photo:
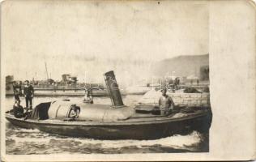
[(112, 101), (112, 105), (115, 108), (124, 106), (122, 102), (122, 96), (119, 91), (119, 87), (117, 84), (116, 77), (113, 73), (113, 70), (105, 73), (105, 83), (107, 85), (107, 89), (109, 91), (109, 96)]

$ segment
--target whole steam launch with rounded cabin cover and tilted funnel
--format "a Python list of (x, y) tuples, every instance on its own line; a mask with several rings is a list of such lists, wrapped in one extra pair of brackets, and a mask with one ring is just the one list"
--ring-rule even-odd
[[(105, 73), (105, 81), (112, 105), (57, 100), (38, 104), (26, 120), (11, 112), (6, 119), (23, 128), (92, 139), (160, 139), (192, 130), (206, 132), (211, 126), (210, 108), (175, 107), (173, 113), (160, 115), (154, 105), (124, 105), (113, 71)], [(79, 113), (70, 117), (74, 109)]]

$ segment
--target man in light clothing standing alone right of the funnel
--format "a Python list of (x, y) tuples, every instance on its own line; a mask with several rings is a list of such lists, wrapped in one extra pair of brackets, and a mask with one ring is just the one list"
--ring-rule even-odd
[(166, 94), (167, 89), (164, 87), (162, 90), (162, 96), (159, 99), (159, 106), (160, 106), (160, 114), (161, 115), (169, 115), (172, 113), (174, 102), (171, 96)]

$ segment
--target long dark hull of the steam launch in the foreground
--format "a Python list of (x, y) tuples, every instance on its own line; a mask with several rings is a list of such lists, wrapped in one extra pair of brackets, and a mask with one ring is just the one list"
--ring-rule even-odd
[(173, 134), (189, 134), (193, 130), (208, 132), (211, 126), (211, 112), (192, 117), (156, 121), (128, 122), (62, 122), (23, 120), (6, 115), (15, 126), (38, 129), (51, 134), (92, 139), (160, 139)]

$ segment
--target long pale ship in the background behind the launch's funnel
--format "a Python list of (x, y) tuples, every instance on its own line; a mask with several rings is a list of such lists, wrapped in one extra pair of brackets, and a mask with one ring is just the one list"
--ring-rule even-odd
[[(6, 96), (14, 96), (13, 83), (17, 82), (13, 76), (6, 76)], [(78, 83), (77, 77), (62, 75), (62, 81), (53, 79), (30, 81), (34, 87), (34, 96), (84, 96), (85, 89), (92, 89), (92, 96), (109, 96), (103, 83)], [(22, 85), (23, 89), (23, 85)], [(149, 87), (128, 87), (121, 89), (122, 95), (143, 95)]]

